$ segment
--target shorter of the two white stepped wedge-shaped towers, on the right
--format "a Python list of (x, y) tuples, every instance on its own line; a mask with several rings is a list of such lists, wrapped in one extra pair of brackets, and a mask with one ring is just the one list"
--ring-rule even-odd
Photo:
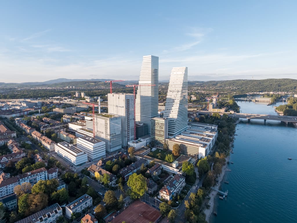
[(172, 68), (164, 118), (168, 119), (168, 137), (173, 138), (188, 127), (188, 68)]

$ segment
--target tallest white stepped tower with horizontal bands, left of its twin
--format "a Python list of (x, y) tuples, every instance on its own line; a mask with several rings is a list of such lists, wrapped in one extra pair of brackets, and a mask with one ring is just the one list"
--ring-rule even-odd
[[(151, 118), (158, 116), (159, 96), (159, 57), (143, 56), (135, 109), (136, 121), (148, 126), (148, 134), (151, 135)], [(141, 86), (142, 85), (142, 86)], [(143, 86), (148, 85), (148, 86)], [(154, 85), (154, 86), (149, 86)]]

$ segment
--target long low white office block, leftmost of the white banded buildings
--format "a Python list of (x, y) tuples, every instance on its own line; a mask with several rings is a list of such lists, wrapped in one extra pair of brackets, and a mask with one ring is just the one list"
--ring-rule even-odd
[(59, 142), (55, 145), (55, 152), (65, 160), (73, 163), (75, 166), (88, 161), (88, 155), (67, 142)]

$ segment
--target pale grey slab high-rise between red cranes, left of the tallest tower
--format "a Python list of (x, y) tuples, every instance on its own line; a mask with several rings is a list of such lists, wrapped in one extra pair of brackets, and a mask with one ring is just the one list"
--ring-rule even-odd
[(109, 93), (108, 113), (121, 116), (122, 146), (134, 140), (134, 94)]

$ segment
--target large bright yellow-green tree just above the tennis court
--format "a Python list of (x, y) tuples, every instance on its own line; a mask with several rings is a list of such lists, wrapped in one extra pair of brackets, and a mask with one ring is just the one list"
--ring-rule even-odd
[(131, 188), (132, 199), (140, 198), (147, 190), (146, 178), (141, 174), (130, 175), (127, 185)]

